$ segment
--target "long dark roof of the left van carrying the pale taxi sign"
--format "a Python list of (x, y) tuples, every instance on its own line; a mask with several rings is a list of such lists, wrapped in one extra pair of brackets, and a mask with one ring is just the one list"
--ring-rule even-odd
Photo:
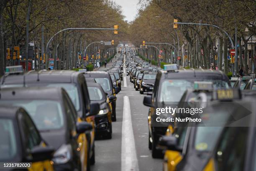
[(26, 83), (34, 82), (62, 82), (71, 83), (74, 81), (75, 77), (78, 77), (79, 73), (77, 71), (67, 71), (67, 70), (51, 70), (51, 71), (29, 71), (22, 75), (9, 75), (7, 77), (3, 76), (1, 78), (1, 84), (23, 84), (24, 77)]

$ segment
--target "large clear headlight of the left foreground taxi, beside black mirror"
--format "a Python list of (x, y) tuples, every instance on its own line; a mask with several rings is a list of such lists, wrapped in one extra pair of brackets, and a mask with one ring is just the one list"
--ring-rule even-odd
[(67, 163), (72, 158), (72, 147), (70, 144), (63, 144), (54, 153), (52, 161), (56, 164)]

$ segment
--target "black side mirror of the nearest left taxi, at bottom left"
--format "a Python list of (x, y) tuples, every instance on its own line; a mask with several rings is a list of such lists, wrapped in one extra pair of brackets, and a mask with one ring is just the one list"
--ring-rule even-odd
[(28, 158), (28, 161), (30, 162), (37, 162), (37, 161), (45, 161), (45, 160), (51, 160), (54, 153), (54, 148), (50, 146), (35, 146), (31, 151), (31, 158)]

